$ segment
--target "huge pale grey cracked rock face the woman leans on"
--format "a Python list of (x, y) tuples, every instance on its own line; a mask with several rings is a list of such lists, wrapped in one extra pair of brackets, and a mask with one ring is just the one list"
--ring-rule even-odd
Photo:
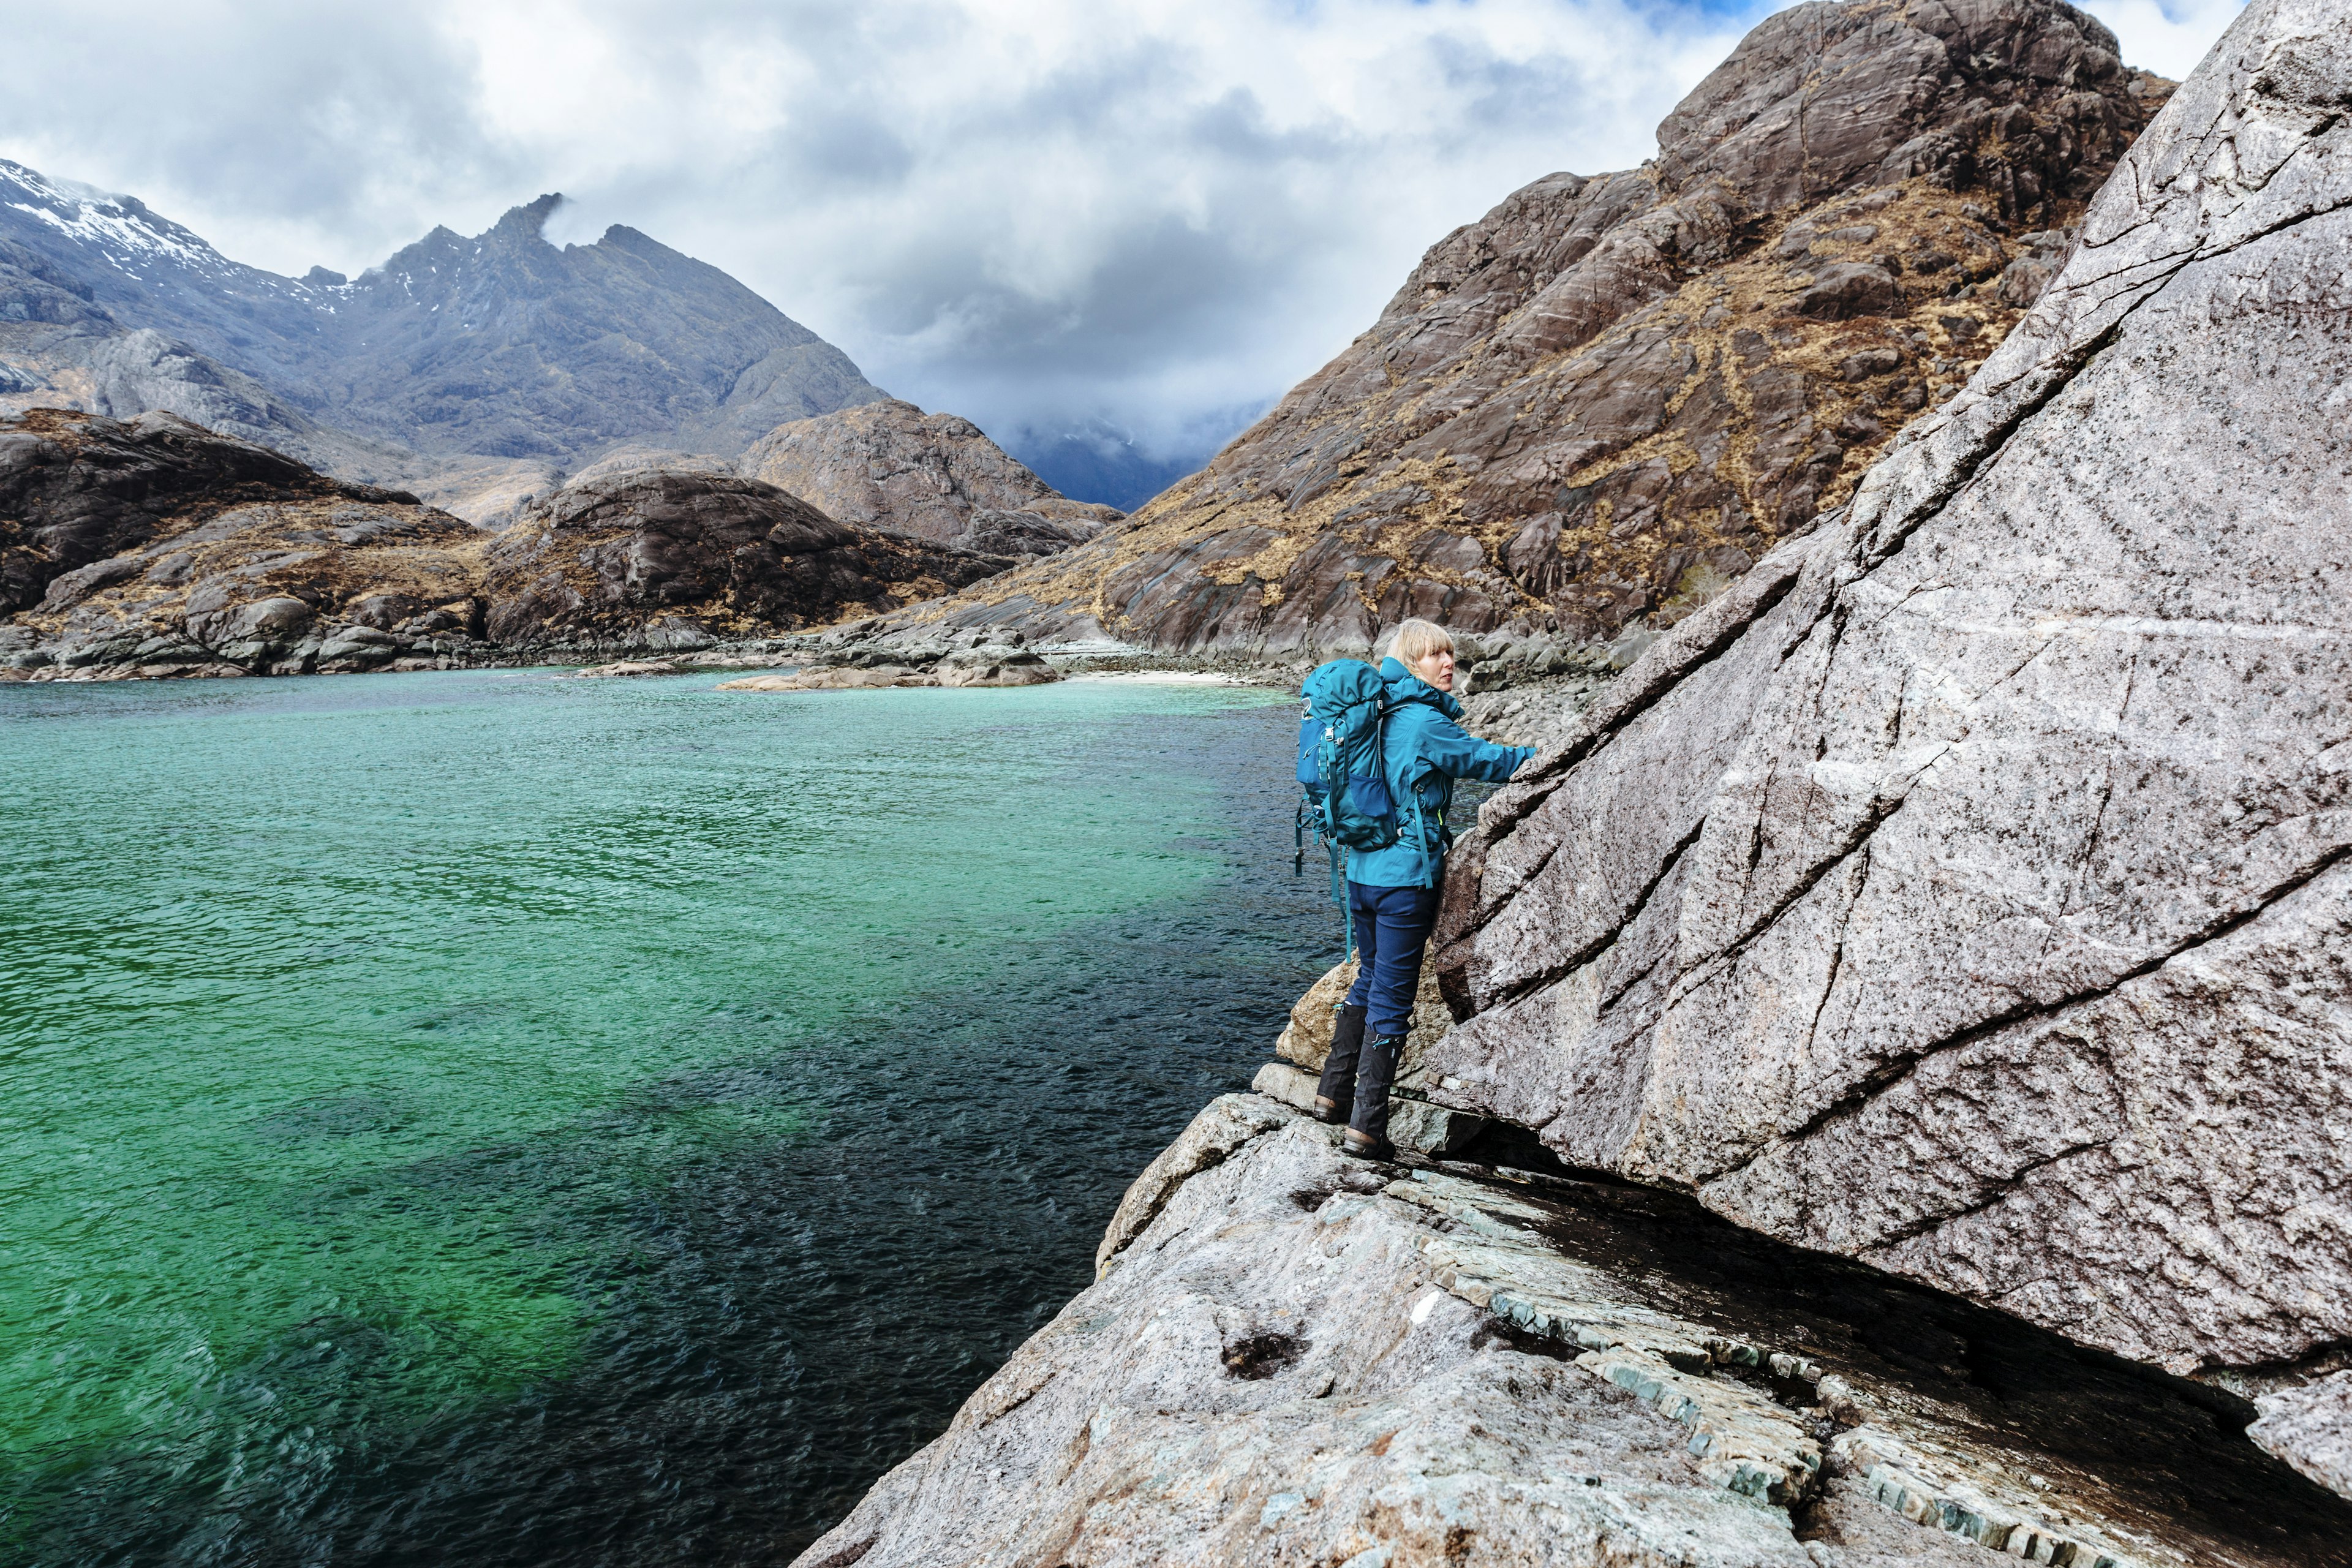
[(2340, 7), (2249, 7), (1971, 386), (1489, 802), (1435, 1098), (2178, 1373), (2328, 1368), (2345, 101)]

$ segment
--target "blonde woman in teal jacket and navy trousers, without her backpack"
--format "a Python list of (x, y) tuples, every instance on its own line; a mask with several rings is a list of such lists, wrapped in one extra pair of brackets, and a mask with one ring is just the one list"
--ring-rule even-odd
[[(1388, 1086), (1414, 1020), (1421, 950), (1437, 924), (1444, 877), (1446, 806), (1456, 778), (1496, 783), (1536, 755), (1531, 745), (1494, 745), (1463, 731), (1454, 691), (1454, 637), (1430, 621), (1406, 621), (1381, 661), (1388, 682), (1383, 766), (1402, 835), (1388, 849), (1348, 851), (1348, 907), (1362, 966), (1338, 1009), (1331, 1056), (1315, 1088), (1315, 1114), (1345, 1121), (1348, 1152), (1388, 1159)], [(1416, 809), (1418, 806), (1418, 809)], [(1352, 1114), (1350, 1114), (1352, 1112)]]

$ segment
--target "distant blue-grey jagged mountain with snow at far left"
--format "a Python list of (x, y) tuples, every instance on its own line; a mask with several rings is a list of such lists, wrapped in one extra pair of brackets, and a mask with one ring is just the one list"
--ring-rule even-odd
[(814, 331), (633, 228), (548, 244), (560, 200), (473, 237), (435, 228), (358, 280), (296, 280), (228, 261), (136, 197), (0, 160), (0, 397), (136, 414), (101, 367), (151, 331), (181, 374), (148, 407), (386, 477), (402, 451), (564, 465), (654, 440), (731, 456), (882, 397)]

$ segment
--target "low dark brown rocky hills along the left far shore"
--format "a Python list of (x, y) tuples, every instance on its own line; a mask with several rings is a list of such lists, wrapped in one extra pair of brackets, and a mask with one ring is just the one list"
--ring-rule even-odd
[(169, 414), (0, 421), (0, 679), (696, 649), (1009, 564), (724, 473), (586, 477), (494, 536)]

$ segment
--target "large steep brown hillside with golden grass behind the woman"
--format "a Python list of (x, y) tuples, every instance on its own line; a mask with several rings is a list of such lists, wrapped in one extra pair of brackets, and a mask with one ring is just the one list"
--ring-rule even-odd
[(1653, 162), (1515, 193), (1204, 473), (924, 614), (1155, 649), (1668, 625), (1969, 378), (2169, 87), (2056, 0), (1785, 9)]

